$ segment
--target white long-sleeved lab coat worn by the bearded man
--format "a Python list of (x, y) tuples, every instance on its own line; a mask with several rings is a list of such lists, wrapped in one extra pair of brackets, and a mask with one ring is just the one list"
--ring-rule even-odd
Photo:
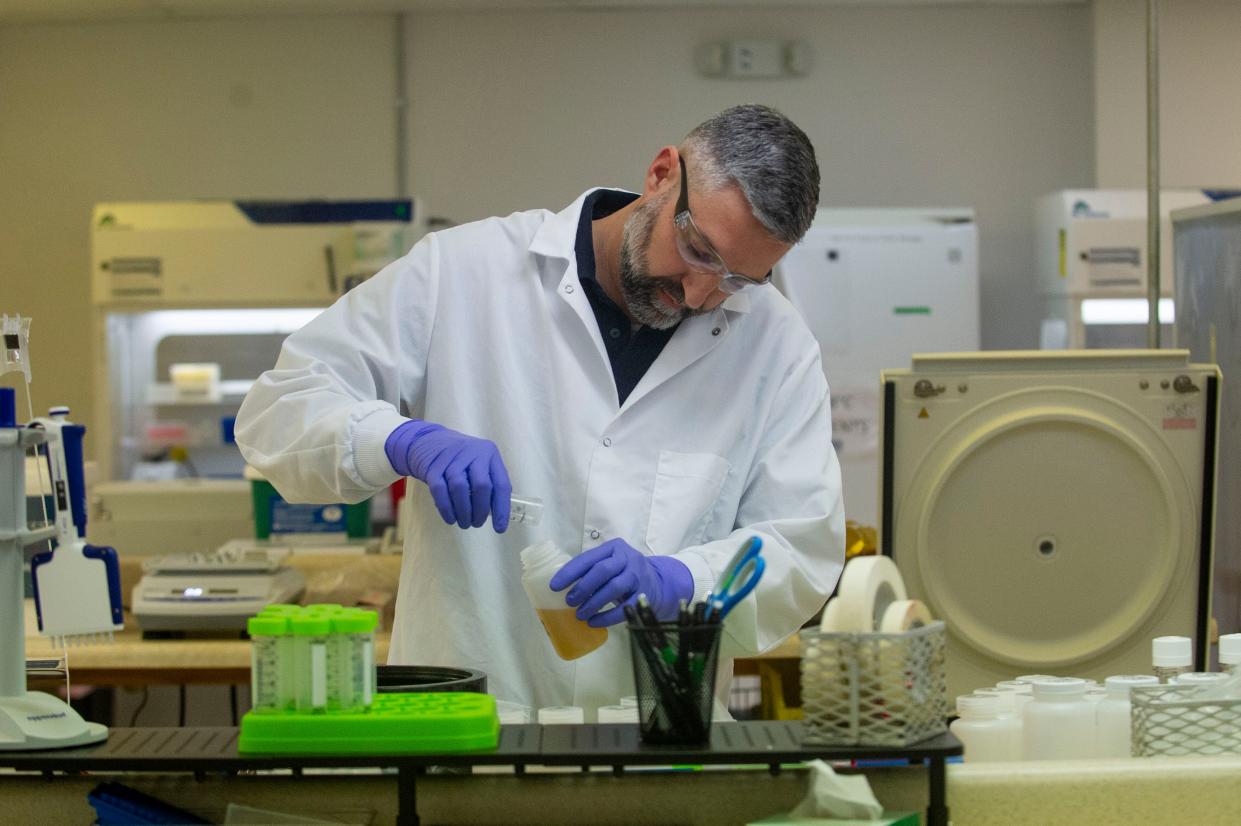
[(315, 502), (395, 481), (383, 443), (405, 417), (494, 440), (542, 522), (463, 531), (411, 480), (388, 661), (480, 668), (501, 699), (592, 719), (634, 692), (628, 633), (560, 660), (522, 592), (521, 548), (619, 537), (675, 554), (699, 600), (761, 536), (766, 574), (726, 623), (726, 698), (732, 657), (781, 642), (834, 588), (844, 512), (819, 346), (773, 288), (683, 321), (618, 406), (573, 253), (588, 193), (423, 238), (288, 337), (236, 434), (283, 496)]

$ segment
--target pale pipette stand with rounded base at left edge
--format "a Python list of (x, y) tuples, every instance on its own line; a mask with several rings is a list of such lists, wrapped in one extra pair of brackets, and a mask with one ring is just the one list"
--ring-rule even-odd
[(26, 450), (41, 430), (0, 422), (0, 750), (52, 749), (107, 739), (60, 697), (26, 691), (26, 618), (22, 549), (56, 536), (26, 525)]

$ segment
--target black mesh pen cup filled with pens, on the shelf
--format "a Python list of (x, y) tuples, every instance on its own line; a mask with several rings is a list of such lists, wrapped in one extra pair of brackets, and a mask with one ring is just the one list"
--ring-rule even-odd
[(644, 743), (700, 744), (710, 739), (722, 628), (720, 623), (629, 625)]

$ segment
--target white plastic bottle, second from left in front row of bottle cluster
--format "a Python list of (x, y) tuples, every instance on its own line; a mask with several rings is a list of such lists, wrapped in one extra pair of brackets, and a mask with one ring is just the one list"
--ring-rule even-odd
[(1034, 701), (1021, 719), (1026, 760), (1076, 760), (1095, 755), (1095, 704), (1086, 681), (1045, 677), (1034, 683)]

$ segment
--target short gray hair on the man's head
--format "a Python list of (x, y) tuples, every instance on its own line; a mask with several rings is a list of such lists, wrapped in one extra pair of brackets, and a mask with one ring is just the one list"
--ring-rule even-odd
[(819, 165), (797, 124), (764, 105), (726, 109), (685, 136), (680, 151), (707, 192), (741, 187), (755, 218), (794, 244), (814, 221)]

